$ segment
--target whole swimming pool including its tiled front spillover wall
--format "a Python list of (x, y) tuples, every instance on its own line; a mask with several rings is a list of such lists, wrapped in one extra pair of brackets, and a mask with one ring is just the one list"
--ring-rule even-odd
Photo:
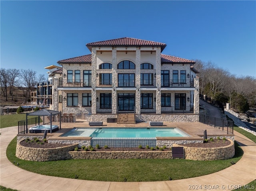
[(95, 147), (155, 147), (159, 137), (190, 137), (178, 128), (74, 128), (61, 135), (66, 138), (90, 137)]

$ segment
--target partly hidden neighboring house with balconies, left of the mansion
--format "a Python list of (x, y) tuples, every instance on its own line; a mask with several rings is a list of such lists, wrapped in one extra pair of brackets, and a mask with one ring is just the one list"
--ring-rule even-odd
[(37, 105), (52, 105), (52, 79), (62, 76), (62, 67), (50, 65), (45, 67), (48, 69), (48, 81), (37, 84), (36, 88), (36, 104)]

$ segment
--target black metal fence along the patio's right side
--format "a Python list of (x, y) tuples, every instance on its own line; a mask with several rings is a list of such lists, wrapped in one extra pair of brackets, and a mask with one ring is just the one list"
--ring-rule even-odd
[(226, 131), (227, 134), (233, 134), (234, 132), (234, 122), (230, 120), (199, 114), (199, 122)]

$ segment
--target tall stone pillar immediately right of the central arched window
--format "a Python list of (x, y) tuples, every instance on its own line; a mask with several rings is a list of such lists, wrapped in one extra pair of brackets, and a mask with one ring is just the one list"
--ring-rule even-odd
[(136, 114), (140, 115), (140, 48), (136, 47), (136, 63), (135, 63), (136, 73), (135, 73), (135, 86), (136, 86), (136, 95), (135, 95), (135, 111)]

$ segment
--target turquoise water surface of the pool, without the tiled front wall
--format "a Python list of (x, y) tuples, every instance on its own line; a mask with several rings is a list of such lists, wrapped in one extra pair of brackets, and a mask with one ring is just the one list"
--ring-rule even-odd
[(155, 137), (189, 137), (178, 128), (74, 128), (64, 137), (94, 138), (155, 138)]

